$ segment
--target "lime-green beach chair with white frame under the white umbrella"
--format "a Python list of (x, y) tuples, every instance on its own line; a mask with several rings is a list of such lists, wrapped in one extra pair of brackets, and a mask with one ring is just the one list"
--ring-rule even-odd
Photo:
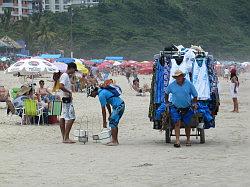
[[(32, 117), (33, 122), (35, 121), (34, 118), (37, 116), (38, 117), (38, 122), (37, 124), (40, 125), (41, 117), (43, 119), (43, 125), (44, 125), (44, 118), (43, 118), (43, 107), (38, 106), (38, 103), (36, 100), (32, 99), (26, 99), (24, 101), (24, 107), (23, 107), (23, 118), (27, 117)], [(23, 123), (23, 120), (22, 120)], [(21, 125), (22, 125), (21, 123)]]

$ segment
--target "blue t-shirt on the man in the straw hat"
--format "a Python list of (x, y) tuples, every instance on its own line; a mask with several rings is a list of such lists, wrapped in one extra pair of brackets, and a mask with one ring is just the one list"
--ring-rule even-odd
[(198, 93), (194, 85), (185, 79), (182, 85), (176, 81), (168, 85), (166, 94), (172, 94), (171, 102), (177, 108), (187, 108), (191, 106), (192, 97), (197, 97)]

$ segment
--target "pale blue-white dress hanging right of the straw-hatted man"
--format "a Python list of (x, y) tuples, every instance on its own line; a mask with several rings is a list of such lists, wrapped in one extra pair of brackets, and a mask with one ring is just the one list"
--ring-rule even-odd
[(210, 83), (206, 58), (197, 58), (193, 63), (192, 83), (198, 92), (198, 100), (210, 99)]

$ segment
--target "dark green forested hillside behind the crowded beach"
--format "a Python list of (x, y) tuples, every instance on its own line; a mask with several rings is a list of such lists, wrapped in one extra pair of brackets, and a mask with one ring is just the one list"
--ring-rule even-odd
[[(218, 59), (247, 60), (249, 0), (109, 0), (73, 9), (75, 56), (151, 59), (169, 44), (201, 45)], [(71, 13), (2, 20), (0, 35), (25, 39), (31, 51), (70, 51)]]

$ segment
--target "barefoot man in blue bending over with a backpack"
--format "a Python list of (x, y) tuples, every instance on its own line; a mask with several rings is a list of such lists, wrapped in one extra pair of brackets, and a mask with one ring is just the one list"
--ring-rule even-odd
[[(113, 88), (113, 89), (112, 89)], [(103, 128), (107, 128), (107, 113), (109, 113), (109, 127), (111, 128), (112, 141), (108, 143), (108, 146), (119, 145), (118, 141), (118, 124), (125, 110), (125, 103), (119, 97), (119, 93), (114, 90), (112, 86), (107, 87), (94, 87), (90, 86), (87, 89), (87, 96), (96, 97), (98, 95), (101, 103)], [(111, 109), (112, 106), (112, 109)]]

